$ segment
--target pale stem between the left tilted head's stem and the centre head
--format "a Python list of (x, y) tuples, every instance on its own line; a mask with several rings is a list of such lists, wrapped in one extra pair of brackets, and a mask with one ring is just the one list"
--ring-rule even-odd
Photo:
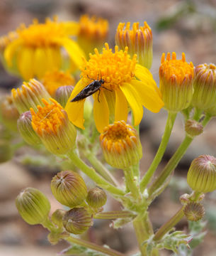
[(113, 175), (110, 174), (108, 169), (106, 169), (106, 167), (103, 166), (103, 164), (101, 164), (101, 161), (98, 161), (96, 156), (94, 156), (94, 154), (92, 154), (90, 150), (86, 150), (83, 153), (84, 153), (84, 156), (86, 156), (86, 159), (88, 159), (89, 162), (92, 164), (92, 166), (96, 169), (98, 174), (100, 174), (103, 178), (105, 178), (108, 182), (112, 183), (113, 185), (117, 187), (120, 186), (118, 182), (115, 180), (115, 178), (113, 177)]

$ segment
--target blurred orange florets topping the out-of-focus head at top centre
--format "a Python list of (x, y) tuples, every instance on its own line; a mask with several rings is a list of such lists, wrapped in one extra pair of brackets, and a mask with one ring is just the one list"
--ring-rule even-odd
[(108, 36), (108, 21), (103, 18), (96, 18), (88, 15), (81, 16), (79, 20), (79, 36), (93, 39), (94, 41), (103, 40)]

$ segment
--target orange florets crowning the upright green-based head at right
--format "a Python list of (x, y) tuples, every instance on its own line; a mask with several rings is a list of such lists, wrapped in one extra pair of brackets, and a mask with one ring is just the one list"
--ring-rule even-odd
[(183, 82), (185, 78), (193, 78), (193, 63), (186, 62), (186, 56), (182, 53), (181, 60), (176, 60), (176, 53), (167, 53), (165, 58), (165, 53), (161, 57), (161, 66), (159, 69), (159, 74), (166, 80), (175, 78), (176, 82)]

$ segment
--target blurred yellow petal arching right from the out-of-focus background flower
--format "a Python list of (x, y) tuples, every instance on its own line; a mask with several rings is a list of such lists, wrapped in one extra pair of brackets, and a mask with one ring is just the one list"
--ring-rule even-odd
[(82, 57), (85, 57), (85, 53), (83, 50), (81, 50), (79, 45), (69, 38), (56, 38), (55, 42), (59, 43), (59, 46), (64, 47), (72, 62), (74, 62), (76, 67), (79, 68), (79, 66), (83, 63)]

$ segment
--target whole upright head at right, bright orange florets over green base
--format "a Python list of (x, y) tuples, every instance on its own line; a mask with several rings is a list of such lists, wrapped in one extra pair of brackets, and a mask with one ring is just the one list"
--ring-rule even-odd
[(193, 96), (193, 63), (187, 63), (185, 54), (176, 60), (176, 53), (165, 53), (161, 57), (159, 68), (160, 90), (164, 108), (178, 112), (186, 109)]

